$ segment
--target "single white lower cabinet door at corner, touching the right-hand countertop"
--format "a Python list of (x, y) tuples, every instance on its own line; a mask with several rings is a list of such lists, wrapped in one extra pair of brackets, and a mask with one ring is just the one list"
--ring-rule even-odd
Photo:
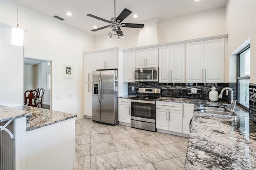
[(194, 104), (183, 104), (183, 133), (190, 134), (190, 120), (193, 117)]

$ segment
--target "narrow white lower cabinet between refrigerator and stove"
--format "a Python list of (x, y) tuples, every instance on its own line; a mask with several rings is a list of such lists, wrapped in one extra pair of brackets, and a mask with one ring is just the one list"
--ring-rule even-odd
[(118, 99), (118, 121), (131, 123), (131, 99)]

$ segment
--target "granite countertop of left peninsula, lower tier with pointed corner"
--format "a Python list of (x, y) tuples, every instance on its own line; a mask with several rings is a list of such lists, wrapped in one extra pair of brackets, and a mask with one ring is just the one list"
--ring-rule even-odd
[(14, 108), (16, 108), (16, 110), (19, 109), (24, 112), (34, 113), (32, 116), (29, 117), (27, 131), (35, 130), (37, 128), (45, 127), (54, 123), (77, 117), (77, 115), (75, 114), (52, 111), (38, 107), (18, 106)]

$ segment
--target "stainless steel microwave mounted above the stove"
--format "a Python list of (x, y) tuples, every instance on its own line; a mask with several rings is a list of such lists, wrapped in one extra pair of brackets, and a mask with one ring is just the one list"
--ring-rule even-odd
[(158, 67), (134, 69), (134, 81), (158, 82)]

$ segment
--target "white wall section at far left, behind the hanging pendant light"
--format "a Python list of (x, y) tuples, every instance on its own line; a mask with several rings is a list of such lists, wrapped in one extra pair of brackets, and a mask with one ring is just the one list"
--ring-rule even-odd
[(0, 105), (23, 101), (23, 47), (11, 44), (11, 30), (0, 27)]

